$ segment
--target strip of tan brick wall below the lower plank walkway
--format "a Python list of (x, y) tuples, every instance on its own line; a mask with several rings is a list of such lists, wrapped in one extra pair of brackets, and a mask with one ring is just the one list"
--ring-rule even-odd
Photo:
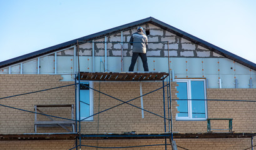
[[(178, 150), (241, 150), (247, 149), (251, 146), (251, 139), (175, 139)], [(255, 142), (255, 140), (253, 141)], [(128, 146), (145, 146), (165, 144), (165, 139), (130, 139), (130, 140), (82, 140), (81, 149), (95, 150), (89, 146), (98, 147), (128, 147)], [(167, 149), (172, 149), (170, 141), (167, 139)], [(76, 146), (74, 140), (65, 141), (0, 141), (0, 148), (9, 150), (23, 150), (23, 149), (40, 149), (40, 150), (63, 150), (71, 149)], [(79, 146), (79, 143), (78, 143)], [(100, 149), (100, 148), (98, 148)], [(115, 148), (116, 149), (116, 148)], [(165, 149), (164, 145), (161, 146), (145, 146), (137, 148), (122, 148), (124, 150), (162, 150)]]

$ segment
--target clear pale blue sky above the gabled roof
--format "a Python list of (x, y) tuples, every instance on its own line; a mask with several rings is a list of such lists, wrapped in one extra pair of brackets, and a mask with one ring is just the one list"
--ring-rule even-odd
[(255, 0), (0, 0), (0, 62), (155, 17), (256, 63)]

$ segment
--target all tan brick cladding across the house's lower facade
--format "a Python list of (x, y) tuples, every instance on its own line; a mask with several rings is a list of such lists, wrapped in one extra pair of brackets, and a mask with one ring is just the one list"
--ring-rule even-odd
[[(63, 82), (59, 79), (61, 76), (1, 74), (0, 98), (73, 84), (73, 82)], [(143, 94), (161, 86), (161, 82), (143, 82)], [(172, 83), (173, 99), (177, 99), (176, 86), (176, 83)], [(140, 83), (138, 82), (95, 82), (94, 88), (123, 101), (140, 96)], [(255, 100), (256, 89), (207, 89), (207, 98), (245, 100), (245, 102), (208, 101), (208, 118), (233, 118), (233, 131), (256, 132), (256, 104), (246, 102)], [(162, 90), (148, 94), (143, 98), (143, 102), (146, 110), (163, 116)], [(120, 103), (116, 99), (94, 92), (94, 113)], [(1, 99), (0, 104), (28, 111), (34, 111), (35, 104), (74, 104), (74, 86)], [(131, 101), (131, 104), (140, 107), (140, 98)], [(205, 133), (207, 131), (206, 121), (175, 121), (177, 106), (177, 102), (173, 101), (173, 131), (180, 133)], [(44, 111), (54, 116), (70, 117), (67, 115), (70, 113), (69, 110), (47, 109)], [(84, 134), (120, 134), (130, 131), (136, 131), (138, 134), (164, 133), (163, 119), (153, 114), (144, 113), (145, 118), (141, 118), (140, 109), (123, 104), (96, 115), (94, 121), (83, 122), (81, 131)], [(0, 119), (1, 134), (34, 133), (34, 114), (1, 106)], [(212, 123), (212, 126), (213, 128), (227, 128), (227, 124), (225, 121), (216, 121)], [(54, 132), (66, 131), (61, 128), (38, 128), (38, 133)], [(84, 144), (94, 146), (95, 142), (83, 141)], [(163, 140), (98, 141), (99, 146), (133, 146), (154, 143), (162, 144)], [(74, 141), (0, 141), (0, 146), (4, 149), (49, 149), (49, 147), (51, 149), (70, 149), (73, 148), (73, 144)], [(177, 139), (177, 145), (187, 149), (245, 149), (250, 147), (250, 139)], [(148, 147), (147, 149), (162, 148), (160, 146), (159, 148)]]

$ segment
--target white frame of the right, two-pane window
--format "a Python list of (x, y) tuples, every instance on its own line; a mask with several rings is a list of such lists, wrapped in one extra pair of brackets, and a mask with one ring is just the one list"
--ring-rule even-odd
[[(191, 81), (203, 81), (203, 87), (204, 87), (204, 93), (205, 93), (205, 99), (207, 99), (207, 90), (206, 90), (206, 79), (175, 79), (175, 82), (183, 82), (187, 83), (187, 95), (188, 99), (192, 98), (192, 92), (191, 92)], [(176, 120), (189, 120), (189, 121), (205, 121), (208, 118), (207, 114), (207, 101), (205, 101), (205, 118), (192, 118), (192, 100), (188, 100), (188, 117), (178, 117), (178, 113), (176, 114)]]

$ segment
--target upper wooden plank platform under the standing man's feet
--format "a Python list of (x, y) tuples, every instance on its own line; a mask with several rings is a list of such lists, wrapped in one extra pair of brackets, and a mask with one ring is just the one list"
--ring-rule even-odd
[(168, 73), (88, 73), (80, 72), (80, 80), (86, 81), (162, 81)]

